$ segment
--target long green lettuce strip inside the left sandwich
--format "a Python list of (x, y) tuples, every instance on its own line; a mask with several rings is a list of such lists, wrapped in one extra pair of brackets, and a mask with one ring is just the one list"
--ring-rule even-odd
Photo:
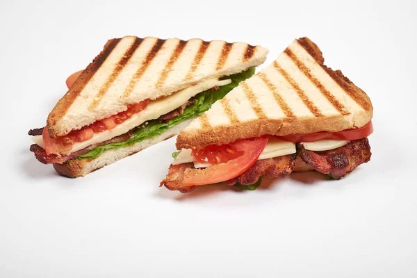
[(198, 95), (195, 96), (194, 104), (187, 106), (184, 109), (182, 115), (174, 117), (173, 119), (168, 120), (166, 122), (160, 122), (158, 119), (150, 120), (147, 122), (147, 125), (142, 126), (133, 131), (131, 137), (128, 140), (124, 142), (111, 143), (96, 147), (95, 149), (92, 149), (90, 152), (77, 156), (76, 158), (80, 160), (83, 158), (92, 159), (102, 154), (106, 149), (119, 149), (122, 147), (129, 147), (137, 142), (145, 140), (146, 138), (158, 136), (167, 129), (170, 129), (172, 126), (179, 124), (180, 122), (202, 115), (202, 113), (208, 111), (208, 109), (211, 107), (213, 103), (215, 103), (215, 101), (222, 99), (241, 81), (250, 78), (250, 76), (252, 76), (254, 72), (255, 68), (250, 67), (250, 69), (246, 70), (245, 72), (225, 76), (221, 80), (231, 79), (231, 83), (221, 86), (220, 88), (218, 88), (218, 90), (200, 92)]

